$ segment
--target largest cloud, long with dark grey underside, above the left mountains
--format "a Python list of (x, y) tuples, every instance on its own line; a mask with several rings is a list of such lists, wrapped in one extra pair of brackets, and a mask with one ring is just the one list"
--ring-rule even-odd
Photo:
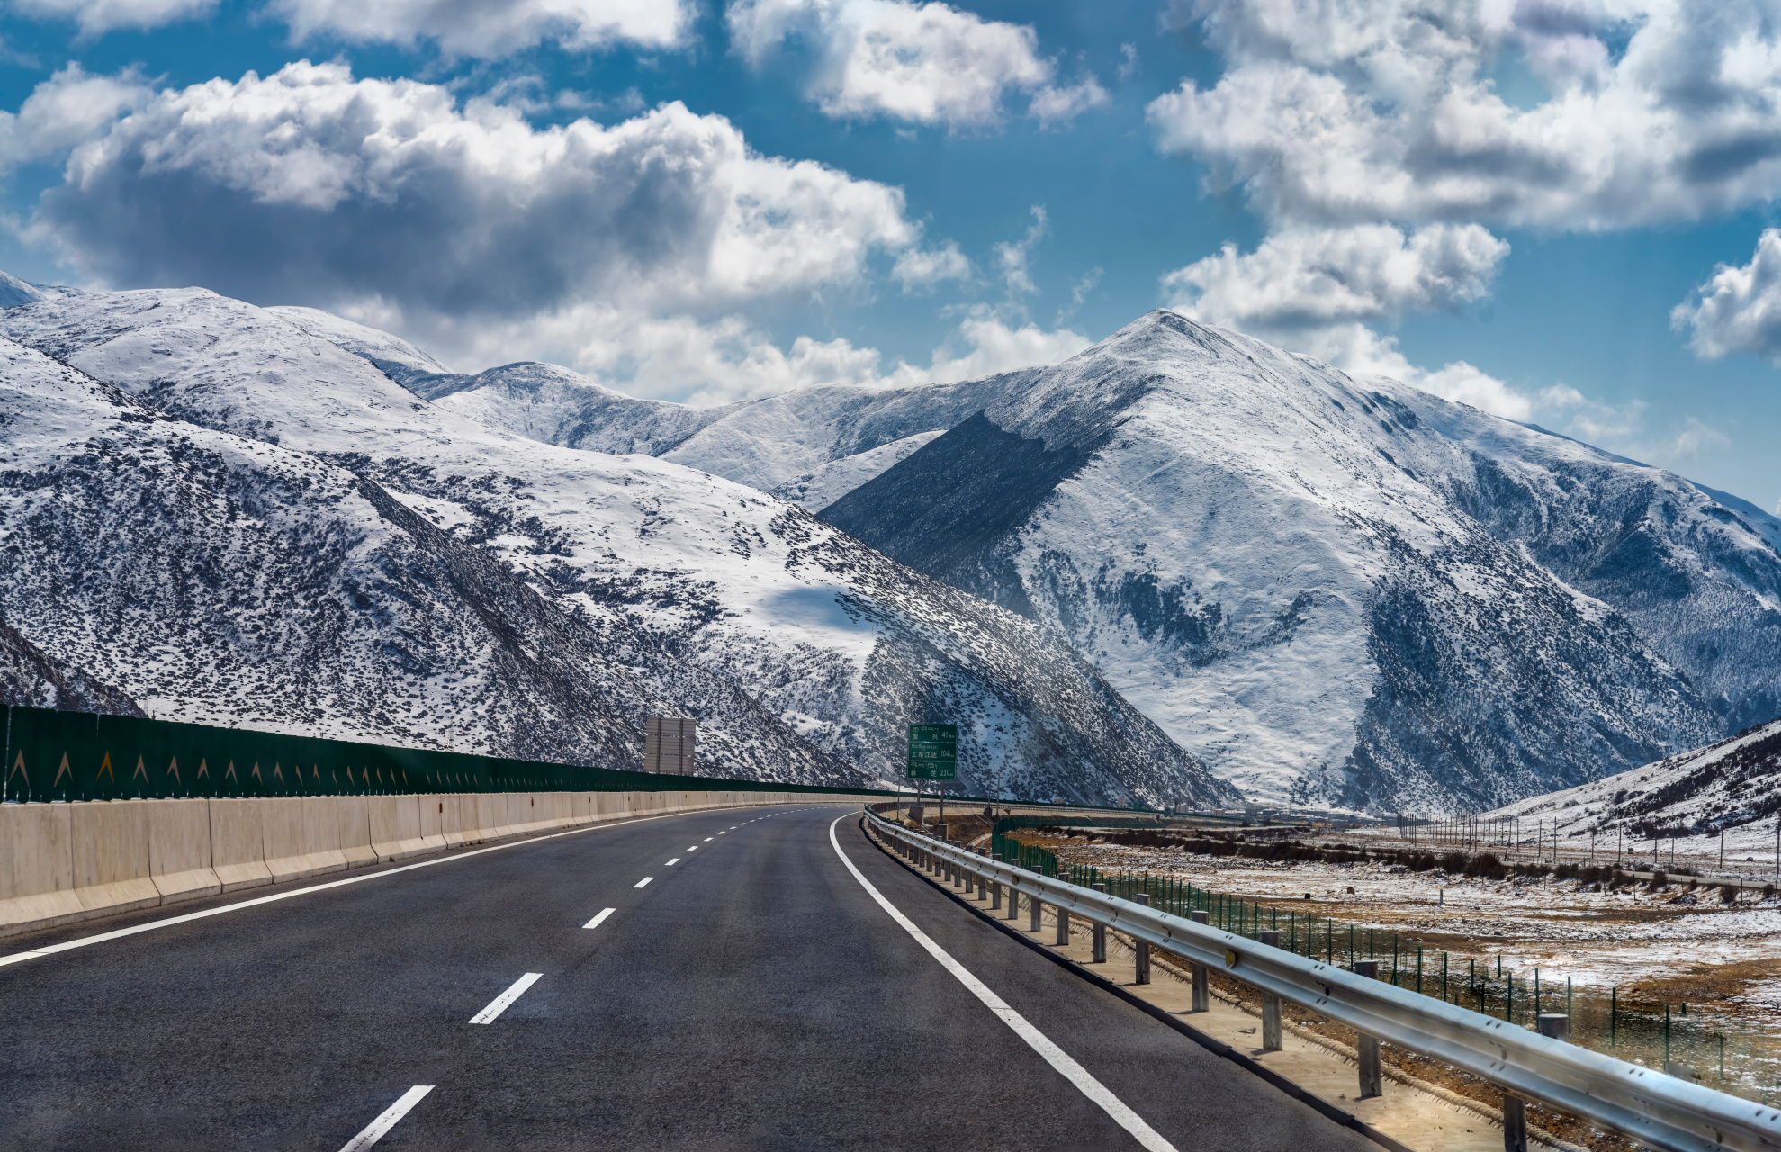
[[(110, 119), (112, 96), (71, 82), (39, 96), (82, 109), (69, 132), (93, 137), (27, 235), (109, 283), (451, 319), (602, 303), (716, 315), (864, 292), (876, 255), (919, 251), (901, 191), (764, 157), (680, 103), (533, 128), (440, 85), (310, 62)], [(11, 128), (27, 119), (61, 123), (27, 103)], [(931, 264), (953, 260), (942, 247)]]

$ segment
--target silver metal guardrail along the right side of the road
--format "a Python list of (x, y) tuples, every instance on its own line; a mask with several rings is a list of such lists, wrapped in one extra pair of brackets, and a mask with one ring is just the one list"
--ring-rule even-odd
[(1209, 924), (1053, 880), (926, 837), (867, 812), (887, 839), (947, 860), (1092, 924), (1118, 931), (1314, 1010), (1400, 1049), (1439, 1059), (1498, 1084), (1505, 1095), (1671, 1152), (1781, 1150), (1781, 1111), (1631, 1065), (1514, 1024), (1395, 988), (1320, 960), (1257, 944)]

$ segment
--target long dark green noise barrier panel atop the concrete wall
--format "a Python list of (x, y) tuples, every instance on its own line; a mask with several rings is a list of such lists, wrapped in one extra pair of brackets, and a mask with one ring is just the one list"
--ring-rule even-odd
[(866, 789), (670, 776), (7, 705), (0, 801)]

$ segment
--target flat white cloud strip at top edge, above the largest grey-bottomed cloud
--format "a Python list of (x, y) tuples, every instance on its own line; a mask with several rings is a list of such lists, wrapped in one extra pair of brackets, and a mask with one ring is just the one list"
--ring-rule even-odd
[[(43, 2), (43, 0), (34, 0)], [(176, 0), (166, 0), (173, 4)], [(297, 41), (333, 36), (413, 46), (452, 57), (502, 57), (543, 41), (565, 48), (679, 48), (693, 23), (687, 0), (272, 0)]]

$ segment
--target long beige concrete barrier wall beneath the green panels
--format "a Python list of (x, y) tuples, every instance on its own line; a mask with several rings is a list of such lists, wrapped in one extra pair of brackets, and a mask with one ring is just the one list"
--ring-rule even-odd
[(801, 792), (467, 792), (0, 805), (0, 937), (638, 815)]

